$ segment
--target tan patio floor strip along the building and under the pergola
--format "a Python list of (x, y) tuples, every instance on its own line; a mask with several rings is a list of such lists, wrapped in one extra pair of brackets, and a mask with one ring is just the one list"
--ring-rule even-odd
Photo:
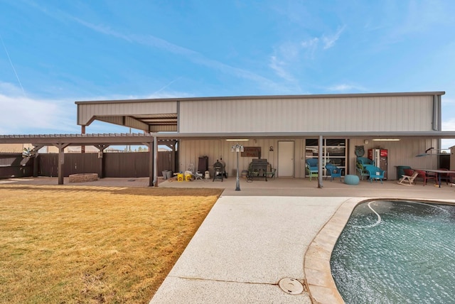
[[(57, 185), (58, 178), (9, 178), (0, 180), (0, 185)], [(235, 177), (225, 178), (223, 182), (209, 180), (193, 180), (191, 182), (176, 180), (164, 180), (158, 178), (159, 187), (166, 188), (222, 188), (223, 195), (229, 196), (295, 196), (295, 197), (389, 197), (400, 199), (425, 199), (425, 200), (453, 200), (455, 197), (455, 186), (442, 183), (441, 188), (436, 184), (429, 183), (423, 186), (421, 181), (417, 185), (398, 185), (397, 180), (385, 180), (370, 183), (368, 180), (360, 180), (358, 185), (346, 185), (339, 180), (330, 181), (323, 179), (323, 188), (318, 188), (316, 180), (309, 181), (308, 178), (274, 178), (267, 182), (254, 180), (247, 183), (240, 178), (240, 191), (235, 191)], [(86, 183), (68, 183), (65, 178), (65, 185), (71, 187), (148, 187), (149, 178), (101, 178), (97, 181)]]

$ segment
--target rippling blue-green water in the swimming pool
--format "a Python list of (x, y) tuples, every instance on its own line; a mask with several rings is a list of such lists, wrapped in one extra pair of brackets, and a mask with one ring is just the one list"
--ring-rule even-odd
[(331, 256), (346, 303), (455, 303), (455, 206), (364, 202)]

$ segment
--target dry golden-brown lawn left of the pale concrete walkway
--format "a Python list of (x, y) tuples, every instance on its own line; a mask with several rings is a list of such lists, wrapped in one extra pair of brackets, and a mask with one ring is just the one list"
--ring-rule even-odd
[(220, 189), (0, 186), (1, 303), (148, 303)]

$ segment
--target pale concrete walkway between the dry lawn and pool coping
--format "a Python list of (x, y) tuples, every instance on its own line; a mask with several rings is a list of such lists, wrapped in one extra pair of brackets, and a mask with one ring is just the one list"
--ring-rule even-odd
[(220, 197), (151, 303), (311, 303), (304, 254), (345, 197)]

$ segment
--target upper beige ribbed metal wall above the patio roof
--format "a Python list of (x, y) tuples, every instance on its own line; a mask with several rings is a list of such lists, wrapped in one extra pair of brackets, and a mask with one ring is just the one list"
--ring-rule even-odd
[(431, 131), (432, 97), (181, 102), (181, 132)]

